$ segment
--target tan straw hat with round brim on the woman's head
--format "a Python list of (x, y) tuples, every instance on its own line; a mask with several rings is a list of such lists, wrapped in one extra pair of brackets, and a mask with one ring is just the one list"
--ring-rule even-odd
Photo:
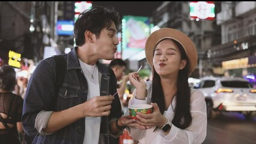
[(177, 29), (172, 28), (161, 28), (157, 31), (154, 31), (147, 38), (145, 44), (145, 55), (150, 67), (153, 66), (153, 52), (156, 48), (156, 45), (163, 39), (170, 38), (172, 40), (178, 41), (178, 43), (183, 46), (187, 57), (189, 59), (189, 75), (195, 70), (197, 67), (197, 48), (195, 48), (194, 43), (190, 40), (187, 35), (183, 32), (178, 31)]

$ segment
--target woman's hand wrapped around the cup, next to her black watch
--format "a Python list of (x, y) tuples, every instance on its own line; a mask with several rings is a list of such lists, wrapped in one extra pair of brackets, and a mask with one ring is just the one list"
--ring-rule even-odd
[(138, 118), (138, 121), (136, 121), (136, 123), (139, 125), (144, 125), (145, 127), (157, 126), (161, 128), (164, 124), (166, 124), (166, 122), (168, 122), (168, 119), (162, 115), (156, 103), (151, 103), (151, 105), (154, 107), (153, 113), (144, 114), (137, 112), (136, 117)]

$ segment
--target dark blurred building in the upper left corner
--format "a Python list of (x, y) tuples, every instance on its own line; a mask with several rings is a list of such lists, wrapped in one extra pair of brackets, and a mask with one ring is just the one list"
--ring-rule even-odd
[(50, 45), (50, 38), (56, 40), (56, 8), (58, 2), (54, 1), (0, 3), (0, 58), (4, 64), (8, 64), (10, 50), (35, 63), (43, 59), (44, 46)]

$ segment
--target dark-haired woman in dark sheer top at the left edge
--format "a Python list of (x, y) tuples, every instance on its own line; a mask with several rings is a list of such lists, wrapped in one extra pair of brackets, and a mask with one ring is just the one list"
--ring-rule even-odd
[(23, 100), (13, 94), (16, 85), (16, 71), (10, 65), (0, 67), (0, 143), (20, 143), (23, 133), (21, 121)]

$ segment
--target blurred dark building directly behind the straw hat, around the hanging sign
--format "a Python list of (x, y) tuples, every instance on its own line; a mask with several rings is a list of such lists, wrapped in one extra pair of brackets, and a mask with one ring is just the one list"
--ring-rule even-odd
[[(215, 2), (215, 13), (219, 11)], [(221, 43), (221, 26), (215, 20), (191, 20), (189, 2), (163, 2), (153, 13), (153, 24), (159, 28), (174, 28), (184, 32), (194, 42), (198, 51), (198, 65), (190, 77), (200, 78), (212, 73), (207, 64), (206, 51)]]

